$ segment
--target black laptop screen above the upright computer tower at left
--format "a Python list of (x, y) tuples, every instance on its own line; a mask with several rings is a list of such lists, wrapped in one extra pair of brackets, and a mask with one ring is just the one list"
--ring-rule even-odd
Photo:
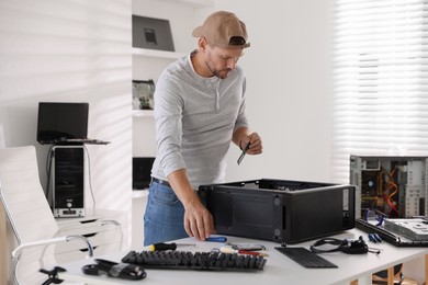
[(87, 138), (88, 113), (88, 103), (40, 102), (37, 141), (45, 145)]

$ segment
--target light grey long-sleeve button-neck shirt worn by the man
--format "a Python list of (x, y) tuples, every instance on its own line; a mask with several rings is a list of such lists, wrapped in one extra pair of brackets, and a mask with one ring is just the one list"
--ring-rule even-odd
[(157, 155), (151, 175), (167, 180), (171, 172), (187, 169), (193, 189), (224, 182), (233, 133), (248, 126), (245, 91), (238, 66), (219, 79), (199, 76), (191, 54), (171, 64), (156, 83)]

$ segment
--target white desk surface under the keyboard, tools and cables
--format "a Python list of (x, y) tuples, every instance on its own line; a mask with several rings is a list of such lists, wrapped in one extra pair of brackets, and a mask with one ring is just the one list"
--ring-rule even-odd
[[(358, 229), (345, 231), (335, 236), (339, 239), (358, 239), (363, 236), (367, 241), (367, 233)], [(309, 248), (316, 240), (290, 244), (290, 247)], [(370, 280), (372, 273), (391, 267), (397, 263), (406, 262), (428, 253), (428, 248), (397, 248), (387, 242), (372, 243), (371, 248), (381, 249), (380, 254), (346, 254), (342, 252), (323, 253), (323, 258), (331, 261), (338, 269), (305, 269), (294, 261), (290, 260), (274, 247), (279, 243), (270, 241), (251, 240), (238, 237), (228, 237), (230, 243), (257, 242), (267, 247), (269, 254), (264, 270), (260, 272), (203, 272), (187, 270), (146, 270), (147, 277), (142, 281), (124, 281), (112, 277), (90, 276), (82, 273), (81, 267), (86, 264), (94, 263), (91, 259), (81, 260), (59, 266), (67, 270), (60, 273), (59, 277), (66, 281), (86, 282), (89, 284), (168, 284), (168, 285), (226, 285), (239, 284), (241, 282), (251, 282), (251, 284), (349, 284), (351, 281), (360, 280), (363, 284)], [(189, 248), (191, 251), (210, 251), (213, 248), (219, 248), (223, 243), (218, 242), (198, 242), (193, 238), (180, 240), (183, 243), (196, 243), (196, 248)], [(145, 248), (142, 247), (140, 250)], [(137, 250), (137, 249), (135, 249)], [(184, 249), (183, 249), (184, 250)], [(117, 252), (103, 256), (94, 256), (120, 262), (128, 251)]]

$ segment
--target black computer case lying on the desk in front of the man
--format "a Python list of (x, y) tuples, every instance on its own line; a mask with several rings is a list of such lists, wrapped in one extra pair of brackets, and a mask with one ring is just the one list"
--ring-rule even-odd
[(353, 185), (261, 179), (198, 193), (221, 235), (297, 243), (354, 227)]

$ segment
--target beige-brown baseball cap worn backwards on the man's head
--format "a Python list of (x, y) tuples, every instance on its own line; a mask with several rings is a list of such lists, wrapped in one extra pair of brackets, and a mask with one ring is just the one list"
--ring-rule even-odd
[[(234, 14), (226, 11), (212, 13), (206, 18), (203, 25), (198, 26), (192, 35), (205, 37), (209, 44), (221, 48), (246, 48), (247, 29), (245, 24)], [(237, 39), (232, 41), (230, 39)]]

